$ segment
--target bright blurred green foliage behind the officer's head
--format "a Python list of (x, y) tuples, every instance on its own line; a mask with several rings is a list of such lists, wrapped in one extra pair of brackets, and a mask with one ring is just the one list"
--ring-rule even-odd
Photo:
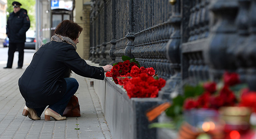
[[(30, 20), (30, 30), (35, 30), (35, 0), (7, 0), (7, 11), (9, 13), (13, 12), (13, 2), (21, 3), (21, 8), (27, 10), (27, 14)], [(7, 15), (7, 19), (9, 18), (10, 14)]]

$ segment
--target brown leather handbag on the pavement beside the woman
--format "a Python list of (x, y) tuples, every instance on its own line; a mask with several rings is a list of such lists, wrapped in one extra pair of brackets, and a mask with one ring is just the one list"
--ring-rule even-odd
[(68, 105), (63, 112), (64, 117), (80, 117), (80, 105), (78, 103), (78, 98), (73, 95), (68, 102)]

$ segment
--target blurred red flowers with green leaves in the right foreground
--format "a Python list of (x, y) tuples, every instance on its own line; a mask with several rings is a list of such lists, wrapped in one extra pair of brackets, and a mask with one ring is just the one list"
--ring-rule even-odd
[[(193, 108), (217, 110), (223, 106), (239, 105), (236, 95), (239, 96), (238, 93), (241, 93), (241, 89), (246, 87), (245, 84), (239, 83), (240, 80), (237, 73), (225, 72), (223, 74), (223, 82), (219, 82), (218, 85), (216, 82), (204, 82), (198, 84), (196, 87), (185, 85), (183, 88), (184, 94), (173, 98), (173, 104), (167, 109), (166, 113), (171, 117), (176, 117), (182, 114), (183, 110)], [(246, 99), (246, 97), (244, 98)], [(250, 104), (243, 103), (241, 106), (246, 105)], [(176, 110), (174, 111), (174, 109)]]

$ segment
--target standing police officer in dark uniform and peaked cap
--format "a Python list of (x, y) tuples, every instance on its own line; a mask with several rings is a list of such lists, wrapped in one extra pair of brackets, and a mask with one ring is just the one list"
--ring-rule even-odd
[(20, 8), (21, 3), (13, 2), (13, 13), (6, 25), (6, 35), (9, 38), (8, 62), (5, 68), (12, 68), (13, 57), (16, 49), (19, 51), (18, 67), (22, 68), (24, 58), (24, 46), (26, 40), (26, 32), (30, 27), (27, 10)]

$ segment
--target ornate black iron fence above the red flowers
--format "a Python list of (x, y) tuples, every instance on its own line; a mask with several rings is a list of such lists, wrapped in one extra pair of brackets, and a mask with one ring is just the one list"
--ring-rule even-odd
[(92, 62), (135, 58), (168, 80), (162, 97), (186, 78), (216, 80), (225, 70), (256, 90), (256, 0), (92, 2)]

